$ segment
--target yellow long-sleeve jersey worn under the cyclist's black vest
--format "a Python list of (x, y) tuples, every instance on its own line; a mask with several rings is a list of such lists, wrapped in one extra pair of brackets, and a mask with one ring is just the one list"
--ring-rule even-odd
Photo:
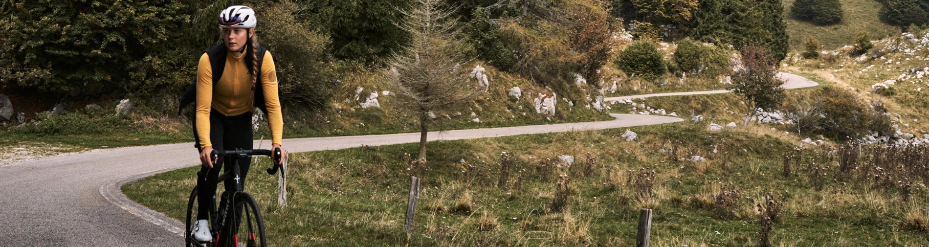
[[(197, 135), (200, 147), (213, 147), (210, 142), (210, 109), (226, 116), (235, 116), (253, 106), (248, 100), (252, 96), (252, 75), (248, 73), (245, 53), (241, 56), (226, 55), (226, 67), (219, 82), (213, 84), (213, 67), (210, 57), (205, 53), (197, 66)], [(271, 128), (271, 143), (281, 145), (283, 118), (281, 117), (281, 100), (278, 98), (278, 76), (274, 69), (274, 59), (270, 52), (265, 52), (261, 68), (261, 86), (268, 108), (268, 123)]]

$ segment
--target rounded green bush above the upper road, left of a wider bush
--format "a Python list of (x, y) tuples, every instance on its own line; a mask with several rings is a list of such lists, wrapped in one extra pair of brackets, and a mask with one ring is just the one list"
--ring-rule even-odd
[(664, 61), (658, 53), (658, 46), (652, 40), (637, 40), (620, 53), (617, 65), (629, 74), (635, 74), (643, 80), (654, 80), (664, 72)]

